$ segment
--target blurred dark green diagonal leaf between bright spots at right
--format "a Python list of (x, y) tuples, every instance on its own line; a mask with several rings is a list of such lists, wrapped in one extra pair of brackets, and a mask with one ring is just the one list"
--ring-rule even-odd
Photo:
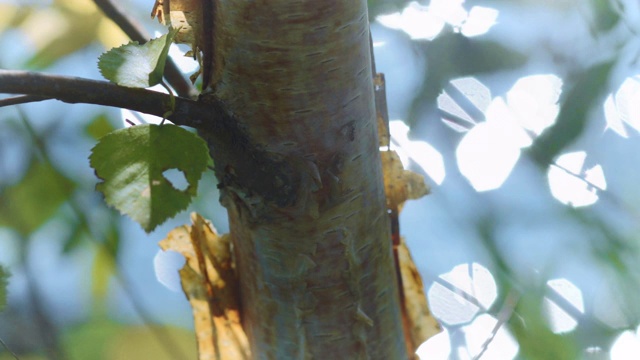
[(531, 155), (542, 167), (553, 159), (584, 131), (589, 111), (594, 105), (601, 106), (598, 98), (607, 87), (613, 62), (595, 65), (582, 74), (571, 90), (565, 92), (556, 123), (546, 129), (533, 143)]

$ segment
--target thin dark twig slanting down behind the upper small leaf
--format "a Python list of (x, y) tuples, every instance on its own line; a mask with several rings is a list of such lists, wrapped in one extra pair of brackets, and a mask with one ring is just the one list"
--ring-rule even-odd
[[(149, 41), (151, 35), (131, 16), (111, 0), (93, 0), (93, 2), (102, 10), (102, 12), (111, 19), (122, 31), (124, 31), (133, 41), (141, 44)], [(164, 77), (167, 82), (176, 90), (176, 93), (185, 98), (194, 98), (198, 95), (191, 83), (185, 79), (178, 66), (171, 58), (167, 59), (164, 68)]]

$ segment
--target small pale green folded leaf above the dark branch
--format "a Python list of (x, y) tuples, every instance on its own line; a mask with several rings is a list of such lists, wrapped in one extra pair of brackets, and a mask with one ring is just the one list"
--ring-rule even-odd
[(178, 29), (142, 45), (137, 41), (113, 48), (100, 55), (98, 68), (105, 79), (118, 85), (147, 88), (162, 81), (169, 46)]

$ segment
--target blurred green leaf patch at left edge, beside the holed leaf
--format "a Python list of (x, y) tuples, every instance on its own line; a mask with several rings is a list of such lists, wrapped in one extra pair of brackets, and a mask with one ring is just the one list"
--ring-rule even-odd
[(34, 161), (22, 180), (1, 194), (0, 225), (28, 235), (55, 214), (74, 188), (75, 183), (50, 164)]

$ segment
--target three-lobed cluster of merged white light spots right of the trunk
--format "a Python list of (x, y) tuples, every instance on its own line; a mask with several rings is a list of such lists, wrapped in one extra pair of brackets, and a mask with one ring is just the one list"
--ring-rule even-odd
[(506, 181), (523, 148), (553, 125), (562, 80), (555, 75), (520, 78), (504, 97), (475, 78), (452, 80), (438, 96), (442, 121), (466, 132), (456, 150), (458, 168), (477, 191)]

